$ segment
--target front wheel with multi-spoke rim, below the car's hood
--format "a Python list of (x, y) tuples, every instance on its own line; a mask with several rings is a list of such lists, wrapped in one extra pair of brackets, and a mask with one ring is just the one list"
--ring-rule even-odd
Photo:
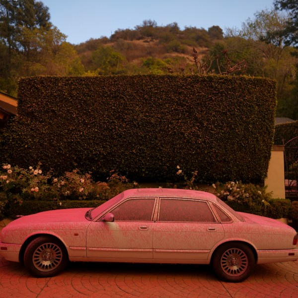
[(58, 239), (41, 236), (33, 239), (24, 253), (24, 265), (35, 277), (52, 277), (65, 269), (68, 253)]

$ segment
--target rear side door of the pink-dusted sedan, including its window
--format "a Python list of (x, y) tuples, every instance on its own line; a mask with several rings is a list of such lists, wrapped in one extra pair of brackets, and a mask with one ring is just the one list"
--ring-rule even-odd
[(160, 198), (153, 258), (206, 260), (211, 248), (223, 238), (223, 226), (206, 201)]

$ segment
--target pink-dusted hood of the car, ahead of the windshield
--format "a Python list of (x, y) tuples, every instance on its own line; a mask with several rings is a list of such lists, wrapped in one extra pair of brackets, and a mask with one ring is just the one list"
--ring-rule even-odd
[(14, 224), (33, 224), (33, 223), (62, 223), (62, 222), (82, 222), (85, 219), (85, 213), (90, 208), (62, 209), (40, 212), (21, 217), (9, 225)]

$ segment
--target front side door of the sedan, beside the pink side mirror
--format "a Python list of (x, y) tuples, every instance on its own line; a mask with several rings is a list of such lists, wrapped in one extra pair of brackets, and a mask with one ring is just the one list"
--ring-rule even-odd
[(87, 257), (152, 258), (156, 198), (130, 198), (108, 210), (114, 222), (99, 220), (87, 229)]

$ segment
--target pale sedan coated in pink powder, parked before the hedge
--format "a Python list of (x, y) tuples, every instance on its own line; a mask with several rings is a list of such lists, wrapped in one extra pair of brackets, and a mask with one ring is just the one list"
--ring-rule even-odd
[(221, 280), (241, 282), (255, 264), (298, 259), (289, 225), (184, 189), (131, 189), (97, 208), (24, 216), (0, 237), (0, 256), (36, 277), (55, 276), (68, 261), (175, 263), (211, 264)]

